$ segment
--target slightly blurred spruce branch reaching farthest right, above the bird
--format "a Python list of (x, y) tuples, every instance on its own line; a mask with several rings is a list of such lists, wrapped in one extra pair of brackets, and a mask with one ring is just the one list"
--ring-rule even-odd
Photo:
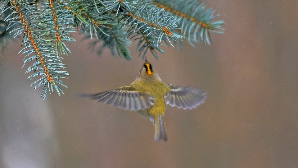
[(193, 0), (153, 0), (152, 3), (180, 19), (180, 35), (187, 37), (190, 43), (199, 43), (202, 40), (204, 44), (210, 45), (210, 41), (212, 42), (210, 31), (223, 33), (221, 25), (224, 21), (211, 22), (219, 14), (213, 16), (215, 11), (211, 8), (205, 10), (203, 3), (199, 4)]

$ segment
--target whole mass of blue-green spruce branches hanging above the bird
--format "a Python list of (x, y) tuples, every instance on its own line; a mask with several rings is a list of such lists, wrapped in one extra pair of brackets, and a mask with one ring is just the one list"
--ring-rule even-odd
[(101, 42), (99, 54), (108, 48), (130, 60), (133, 40), (139, 57), (150, 51), (158, 59), (160, 45), (179, 42), (181, 48), (183, 39), (210, 44), (210, 32), (223, 33), (224, 21), (213, 21), (217, 16), (196, 0), (0, 0), (0, 49), (23, 37), (23, 67), (30, 63), (25, 74), (32, 73), (34, 89), (43, 87), (45, 100), (48, 92), (60, 96), (67, 87), (62, 56), (71, 54), (66, 43), (75, 41), (72, 32), (96, 38), (93, 47)]

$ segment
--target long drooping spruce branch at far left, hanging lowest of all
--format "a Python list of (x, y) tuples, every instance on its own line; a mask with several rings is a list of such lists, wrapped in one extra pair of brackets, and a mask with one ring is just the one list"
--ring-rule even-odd
[(22, 24), (21, 27), (11, 30), (10, 33), (16, 32), (14, 37), (24, 34), (24, 48), (20, 51), (23, 51), (22, 54), (26, 54), (23, 59), (23, 67), (26, 63), (35, 60), (35, 62), (26, 70), (25, 74), (34, 71), (34, 73), (28, 77), (29, 82), (34, 77), (41, 76), (41, 78), (33, 82), (31, 86), (36, 83), (37, 85), (34, 89), (43, 86), (41, 97), (43, 96), (44, 100), (47, 92), (49, 91), (50, 94), (52, 94), (54, 88), (60, 96), (60, 91), (63, 93), (60, 86), (67, 87), (63, 84), (61, 78), (66, 78), (64, 76), (69, 75), (69, 73), (66, 71), (59, 71), (59, 69), (65, 68), (65, 64), (61, 61), (62, 58), (53, 47), (53, 44), (49, 43), (48, 39), (42, 38), (43, 35), (49, 33), (51, 29), (40, 28), (43, 27), (43, 23), (40, 23), (38, 20), (42, 19), (43, 16), (40, 15), (39, 8), (36, 7), (36, 4), (12, 0), (11, 9), (13, 12), (6, 18), (6, 21), (10, 21), (7, 29), (18, 23)]

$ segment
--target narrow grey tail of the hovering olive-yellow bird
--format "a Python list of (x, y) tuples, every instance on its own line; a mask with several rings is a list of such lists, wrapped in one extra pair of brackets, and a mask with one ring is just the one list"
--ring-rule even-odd
[(154, 140), (156, 142), (163, 140), (164, 142), (167, 141), (168, 136), (165, 132), (165, 120), (164, 116), (162, 114), (159, 114), (159, 116), (154, 117), (155, 120), (155, 133), (154, 133)]

